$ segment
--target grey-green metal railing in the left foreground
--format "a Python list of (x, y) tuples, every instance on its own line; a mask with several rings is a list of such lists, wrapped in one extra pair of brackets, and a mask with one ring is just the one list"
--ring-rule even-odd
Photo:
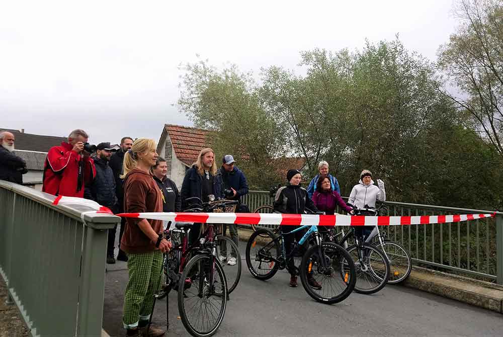
[(0, 181), (0, 274), (33, 336), (101, 336), (107, 231), (120, 218)]

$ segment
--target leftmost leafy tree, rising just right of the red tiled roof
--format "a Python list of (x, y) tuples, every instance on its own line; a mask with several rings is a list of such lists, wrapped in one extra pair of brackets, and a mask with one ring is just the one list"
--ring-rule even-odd
[(251, 74), (235, 65), (218, 71), (200, 61), (185, 66), (180, 108), (195, 125), (213, 131), (217, 164), (233, 154), (251, 188), (266, 188), (275, 179), (271, 158), (282, 152), (275, 121), (260, 105)]

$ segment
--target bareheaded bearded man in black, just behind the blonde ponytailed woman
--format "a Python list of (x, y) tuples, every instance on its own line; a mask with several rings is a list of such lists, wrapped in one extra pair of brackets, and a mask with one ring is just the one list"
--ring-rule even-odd
[[(117, 197), (117, 202), (119, 208), (117, 212), (124, 212), (124, 192), (123, 192), (123, 180), (120, 178), (120, 175), (123, 173), (122, 164), (124, 161), (124, 153), (129, 150), (133, 146), (133, 138), (131, 137), (123, 137), (121, 139), (121, 149), (112, 154), (110, 158), (110, 167), (112, 167), (112, 171), (114, 172), (115, 177), (115, 196)], [(119, 230), (119, 242), (121, 242), (122, 234), (124, 233), (124, 228), (126, 227), (126, 218), (121, 219), (121, 228)], [(127, 262), (127, 256), (124, 254), (124, 251), (119, 247), (119, 254), (117, 254), (117, 260)]]

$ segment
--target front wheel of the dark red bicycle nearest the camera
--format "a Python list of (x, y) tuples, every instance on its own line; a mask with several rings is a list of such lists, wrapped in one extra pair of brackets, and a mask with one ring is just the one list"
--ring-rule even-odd
[(187, 263), (178, 289), (178, 310), (185, 328), (194, 337), (213, 335), (222, 323), (226, 305), (222, 266), (211, 255), (196, 255)]

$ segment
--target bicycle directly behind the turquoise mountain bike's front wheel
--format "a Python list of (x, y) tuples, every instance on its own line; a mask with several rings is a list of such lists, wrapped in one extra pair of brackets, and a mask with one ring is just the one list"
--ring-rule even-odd
[[(368, 208), (359, 209), (351, 204), (348, 204), (348, 206), (353, 207), (355, 215), (369, 214), (370, 209)], [(343, 238), (338, 241), (337, 237), (341, 234)], [(348, 246), (348, 239), (351, 236), (355, 238), (356, 243)], [(329, 230), (325, 234), (325, 240), (347, 247), (348, 254), (355, 263), (357, 273), (355, 291), (357, 293), (373, 294), (384, 288), (390, 273), (388, 259), (381, 250), (365, 242), (362, 232), (356, 232), (355, 227), (351, 227), (346, 234), (344, 234), (344, 231), (334, 234), (333, 231)]]

